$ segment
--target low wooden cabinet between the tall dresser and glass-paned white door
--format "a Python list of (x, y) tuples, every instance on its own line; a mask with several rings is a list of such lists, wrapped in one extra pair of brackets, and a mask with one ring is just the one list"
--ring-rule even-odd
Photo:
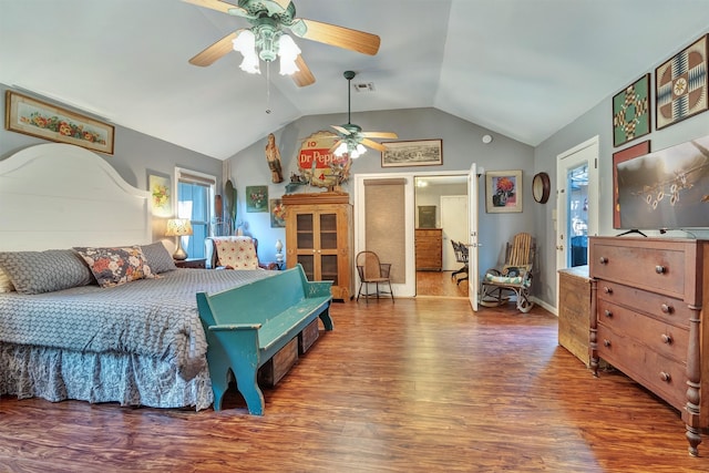
[(588, 266), (558, 271), (558, 345), (587, 367), (590, 326), (590, 277)]

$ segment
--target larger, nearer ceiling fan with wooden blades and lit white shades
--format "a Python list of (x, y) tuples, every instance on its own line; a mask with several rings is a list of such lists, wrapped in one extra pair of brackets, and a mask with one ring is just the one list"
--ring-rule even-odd
[[(363, 54), (374, 55), (380, 39), (376, 34), (345, 27), (296, 18), (296, 6), (290, 0), (238, 0), (238, 4), (222, 0), (183, 0), (198, 7), (245, 18), (251, 28), (243, 28), (227, 34), (189, 60), (191, 64), (206, 66), (230, 51), (244, 54), (242, 69), (259, 73), (259, 59), (271, 62), (280, 56), (281, 74), (291, 74), (296, 85), (302, 88), (315, 83), (315, 76), (300, 56), (300, 49), (286, 34), (290, 31), (298, 38), (318, 41)], [(248, 53), (248, 56), (247, 56)], [(285, 56), (285, 54), (288, 54)], [(284, 69), (285, 62), (288, 65)], [(285, 72), (284, 72), (285, 71)]]

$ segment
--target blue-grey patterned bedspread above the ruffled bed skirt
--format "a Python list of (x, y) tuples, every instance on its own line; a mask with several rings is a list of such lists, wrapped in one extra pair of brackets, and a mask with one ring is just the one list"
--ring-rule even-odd
[(112, 288), (0, 294), (0, 342), (76, 352), (136, 353), (177, 367), (185, 380), (205, 368), (207, 343), (196, 292), (271, 276), (264, 270), (177, 269)]

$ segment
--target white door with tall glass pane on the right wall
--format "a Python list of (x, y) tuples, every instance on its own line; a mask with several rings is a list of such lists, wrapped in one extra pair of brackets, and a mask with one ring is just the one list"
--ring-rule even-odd
[(557, 156), (556, 181), (558, 270), (586, 265), (587, 238), (598, 235), (598, 136)]

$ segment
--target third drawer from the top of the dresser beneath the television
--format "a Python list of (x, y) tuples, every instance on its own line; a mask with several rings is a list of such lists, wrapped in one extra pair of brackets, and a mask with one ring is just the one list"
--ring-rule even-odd
[(681, 362), (687, 359), (689, 330), (656, 320), (605, 300), (598, 301), (598, 323)]

